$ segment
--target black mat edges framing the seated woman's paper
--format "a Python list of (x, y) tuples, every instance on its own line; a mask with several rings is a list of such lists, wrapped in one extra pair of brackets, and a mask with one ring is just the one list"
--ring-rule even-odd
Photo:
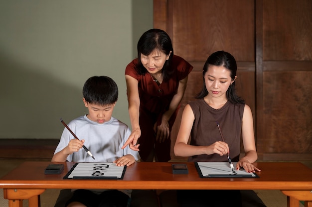
[[(207, 162), (207, 163), (213, 163), (213, 162)], [(217, 162), (215, 162), (217, 163)], [(222, 162), (223, 163), (223, 162)], [(248, 174), (234, 174), (231, 173), (231, 168), (229, 168), (229, 173), (228, 174), (217, 174), (217, 173), (212, 173), (208, 175), (203, 175), (198, 162), (194, 162), (196, 170), (198, 172), (198, 175), (200, 178), (259, 178), (259, 175), (256, 173), (248, 173)], [(228, 163), (227, 163), (228, 164)]]

